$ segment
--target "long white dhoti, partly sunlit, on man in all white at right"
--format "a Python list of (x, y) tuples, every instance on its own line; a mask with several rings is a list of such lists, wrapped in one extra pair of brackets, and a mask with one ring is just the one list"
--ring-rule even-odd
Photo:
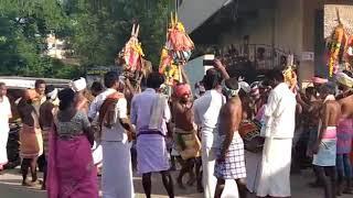
[(290, 197), (291, 144), (292, 139), (266, 139), (258, 197)]

